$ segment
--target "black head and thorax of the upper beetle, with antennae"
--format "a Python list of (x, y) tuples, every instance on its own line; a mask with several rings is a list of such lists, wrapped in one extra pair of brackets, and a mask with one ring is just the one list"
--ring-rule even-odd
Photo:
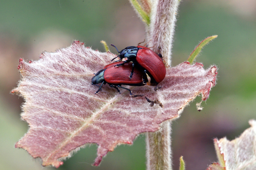
[[(111, 44), (111, 46), (114, 46), (116, 48), (116, 50), (117, 50), (117, 47), (115, 45)], [(121, 51), (117, 50), (117, 52), (120, 53), (118, 55), (120, 57), (120, 59), (123, 59), (123, 58), (136, 58), (138, 50), (139, 50), (139, 48), (137, 46), (127, 46), (126, 48), (124, 48)], [(118, 58), (118, 56), (116, 56), (111, 61), (113, 61), (116, 58)]]

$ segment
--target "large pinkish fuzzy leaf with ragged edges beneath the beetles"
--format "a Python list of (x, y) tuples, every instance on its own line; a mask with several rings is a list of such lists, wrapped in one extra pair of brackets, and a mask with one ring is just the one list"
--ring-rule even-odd
[(178, 118), (198, 94), (206, 100), (215, 85), (215, 66), (204, 70), (201, 63), (183, 62), (166, 69), (158, 88), (128, 86), (133, 94), (155, 101), (154, 106), (145, 97), (131, 98), (128, 91), (121, 89), (119, 94), (108, 85), (94, 94), (98, 87), (91, 85), (93, 73), (115, 56), (76, 41), (54, 53), (42, 53), (38, 61), (20, 59), (22, 78), (12, 93), (25, 99), (21, 117), (30, 128), (15, 147), (41, 157), (43, 166), (59, 167), (60, 159), (71, 151), (97, 143), (97, 166), (117, 144), (132, 144), (138, 134), (157, 131), (163, 121)]

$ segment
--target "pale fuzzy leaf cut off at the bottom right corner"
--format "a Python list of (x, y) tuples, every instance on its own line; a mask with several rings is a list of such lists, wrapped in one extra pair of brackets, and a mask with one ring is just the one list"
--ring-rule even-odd
[(235, 140), (214, 140), (219, 162), (225, 169), (256, 169), (256, 120), (249, 124), (251, 127)]

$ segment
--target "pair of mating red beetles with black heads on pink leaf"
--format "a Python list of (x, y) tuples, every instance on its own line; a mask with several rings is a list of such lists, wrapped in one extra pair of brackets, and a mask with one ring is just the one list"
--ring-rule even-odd
[[(117, 47), (113, 44), (117, 50)], [(166, 69), (163, 60), (152, 50), (145, 46), (128, 46), (121, 50), (117, 57), (120, 59), (114, 63), (108, 64), (104, 69), (100, 70), (92, 78), (92, 84), (99, 86), (98, 93), (103, 84), (108, 83), (110, 87), (116, 88), (120, 93), (118, 87), (124, 88), (121, 85), (143, 86), (148, 82), (147, 74), (150, 77), (150, 85), (157, 85), (162, 82), (165, 77)], [(122, 61), (123, 58), (127, 60)], [(132, 61), (132, 63), (131, 63)], [(128, 88), (124, 88), (130, 92)]]

